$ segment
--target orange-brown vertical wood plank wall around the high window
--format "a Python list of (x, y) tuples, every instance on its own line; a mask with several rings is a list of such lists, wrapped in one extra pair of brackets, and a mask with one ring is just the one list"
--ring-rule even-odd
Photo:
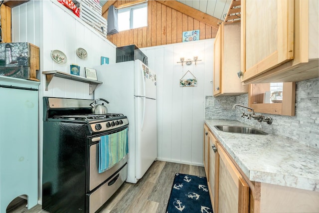
[[(130, 2), (118, 0), (113, 5)], [(103, 14), (107, 18), (108, 11)], [(108, 35), (107, 39), (116, 46), (135, 44), (139, 48), (182, 42), (182, 32), (199, 29), (199, 38), (215, 38), (217, 29), (172, 9), (155, 0), (148, 1), (148, 26), (121, 31)]]

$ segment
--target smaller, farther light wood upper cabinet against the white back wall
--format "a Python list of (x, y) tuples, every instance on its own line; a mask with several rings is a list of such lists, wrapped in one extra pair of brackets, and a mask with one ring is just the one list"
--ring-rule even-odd
[(214, 96), (248, 93), (237, 73), (240, 71), (240, 23), (222, 24), (214, 42)]

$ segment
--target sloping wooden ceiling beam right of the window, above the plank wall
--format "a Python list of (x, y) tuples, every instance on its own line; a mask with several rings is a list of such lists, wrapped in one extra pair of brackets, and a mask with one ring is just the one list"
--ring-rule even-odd
[(172, 9), (175, 9), (179, 12), (182, 12), (190, 17), (193, 17), (207, 25), (210, 25), (216, 29), (218, 29), (219, 24), (222, 20), (215, 18), (214, 16), (208, 15), (200, 10), (194, 9), (186, 4), (180, 3), (176, 0), (157, 0), (161, 4), (164, 4)]

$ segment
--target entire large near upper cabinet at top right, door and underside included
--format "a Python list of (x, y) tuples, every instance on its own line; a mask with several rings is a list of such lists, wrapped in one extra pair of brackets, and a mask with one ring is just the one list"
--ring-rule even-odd
[(242, 82), (319, 76), (318, 0), (241, 0)]

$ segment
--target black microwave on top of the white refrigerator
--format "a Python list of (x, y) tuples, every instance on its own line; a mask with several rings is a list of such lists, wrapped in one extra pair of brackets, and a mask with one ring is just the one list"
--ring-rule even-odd
[(148, 66), (148, 57), (136, 46), (128, 45), (116, 48), (116, 62), (135, 61), (139, 59)]

